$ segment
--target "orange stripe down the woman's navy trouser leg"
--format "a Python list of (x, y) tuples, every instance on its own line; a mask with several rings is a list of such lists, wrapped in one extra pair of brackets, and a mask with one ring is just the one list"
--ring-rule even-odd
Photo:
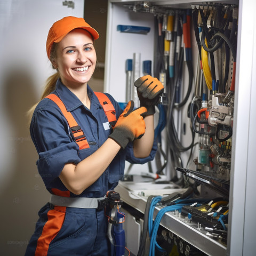
[(54, 209), (47, 213), (48, 220), (44, 225), (41, 236), (37, 240), (35, 256), (47, 255), (50, 243), (63, 225), (65, 214), (66, 207), (63, 206), (54, 206)]

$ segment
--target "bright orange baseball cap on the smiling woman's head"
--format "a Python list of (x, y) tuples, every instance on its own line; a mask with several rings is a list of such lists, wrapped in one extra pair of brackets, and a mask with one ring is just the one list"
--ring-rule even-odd
[(87, 30), (92, 35), (93, 39), (99, 38), (98, 32), (86, 23), (83, 18), (73, 16), (64, 17), (61, 20), (54, 22), (49, 30), (46, 41), (46, 52), (49, 59), (53, 43), (59, 43), (63, 37), (75, 28), (83, 28)]

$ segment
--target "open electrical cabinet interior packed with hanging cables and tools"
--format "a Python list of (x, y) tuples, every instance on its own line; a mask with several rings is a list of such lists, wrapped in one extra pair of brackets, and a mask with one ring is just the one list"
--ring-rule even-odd
[[(188, 203), (179, 212), (170, 210), (169, 221), (173, 226), (173, 219), (178, 221), (184, 233), (192, 227), (210, 247), (219, 246), (209, 255), (230, 251), (241, 3), (109, 1), (105, 90), (121, 102), (133, 99), (138, 107), (132, 87), (137, 78), (149, 74), (163, 83), (164, 94), (156, 108), (158, 151), (150, 171), (179, 187), (192, 187), (194, 196), (198, 193), (195, 204)], [(180, 246), (175, 244), (178, 251), (182, 249), (179, 255), (209, 253), (200, 242), (191, 242), (186, 235), (183, 239), (168, 218), (163, 222), (167, 229), (159, 229), (157, 237), (165, 241), (167, 252), (174, 235), (181, 241)], [(186, 254), (190, 247), (194, 252)]]

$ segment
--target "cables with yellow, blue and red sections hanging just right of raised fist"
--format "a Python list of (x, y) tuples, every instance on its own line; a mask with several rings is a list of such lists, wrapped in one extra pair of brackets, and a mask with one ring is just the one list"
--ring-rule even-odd
[[(157, 15), (155, 17), (156, 50), (154, 76), (159, 77), (166, 88), (168, 100), (166, 131), (171, 164), (174, 170), (175, 166), (183, 166), (181, 153), (191, 149), (194, 145), (193, 130), (191, 130), (192, 141), (190, 145), (186, 147), (182, 145), (174, 121), (175, 109), (181, 109), (186, 105), (193, 85), (190, 41), (191, 10), (188, 9), (185, 12), (169, 10), (168, 13), (169, 15)], [(185, 42), (184, 46), (181, 42), (182, 34)], [(183, 100), (180, 100), (184, 63), (188, 69), (189, 81), (186, 95)]]

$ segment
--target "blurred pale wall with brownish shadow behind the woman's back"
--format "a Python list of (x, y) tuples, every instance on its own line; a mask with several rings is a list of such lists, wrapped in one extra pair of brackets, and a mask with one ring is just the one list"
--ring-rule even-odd
[(0, 0), (0, 255), (23, 255), (38, 210), (49, 193), (38, 175), (38, 158), (26, 111), (36, 103), (52, 74), (45, 42), (52, 23), (83, 17), (61, 0)]

